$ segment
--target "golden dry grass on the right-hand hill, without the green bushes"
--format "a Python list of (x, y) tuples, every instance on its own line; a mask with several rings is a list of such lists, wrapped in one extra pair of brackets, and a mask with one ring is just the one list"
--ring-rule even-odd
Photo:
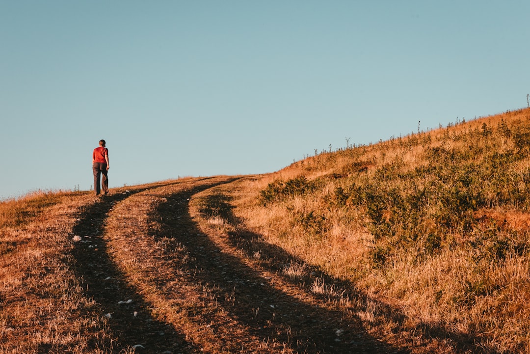
[[(502, 156), (506, 155), (508, 159), (509, 155), (523, 149), (520, 142), (516, 143), (514, 135), (524, 136), (529, 122), (530, 110), (507, 112), (351, 151), (308, 157), (260, 180), (247, 182), (242, 188), (246, 191), (245, 196), (237, 201), (236, 214), (268, 242), (283, 247), (309, 264), (318, 265), (330, 275), (352, 281), (374, 302), (400, 309), (411, 329), (418, 325), (442, 329), (475, 341), (475, 350), (484, 352), (526, 352), (530, 350), (527, 335), (530, 332), (530, 305), (524, 299), (529, 293), (530, 267), (528, 252), (524, 250), (530, 247), (530, 210), (527, 206), (518, 209), (517, 203), (509, 205), (511, 199), (499, 199), (499, 187), (511, 188), (509, 193), (520, 193), (514, 196), (527, 193), (524, 181), (530, 164), (525, 150), (526, 155), (519, 153), (519, 160), (508, 167), (509, 171), (514, 171), (513, 176), (519, 176), (513, 182), (508, 180), (512, 185), (492, 185), (487, 173), (481, 184), (476, 185), (484, 198), (497, 206), (475, 209), (474, 231), (463, 234), (448, 229), (442, 236), (446, 241), (442, 241), (439, 251), (427, 257), (418, 253), (423, 251), (412, 244), (409, 248), (388, 253), (390, 258), (384, 267), (374, 266), (374, 247), (383, 244), (374, 240), (374, 235), (369, 232), (370, 219), (363, 208), (348, 207), (349, 200), (344, 208), (333, 202), (333, 198), (337, 187), (369, 183), (380, 178), (381, 171), (391, 166), (398, 166), (398, 170), (392, 170), (397, 172), (389, 174), (394, 176), (413, 174), (418, 167), (430, 167), (432, 158), (429, 160), (428, 156), (436, 148), (457, 154), (466, 154), (471, 145), (476, 151), (482, 149), (487, 154), (475, 155), (474, 160), (465, 163), (488, 169), (492, 154), (504, 154)], [(503, 135), (502, 125), (510, 129), (511, 135)], [(484, 138), (486, 136), (489, 138)], [(491, 169), (494, 171), (494, 166)], [(321, 187), (316, 192), (262, 205), (259, 193), (269, 183), (300, 175), (308, 180), (321, 181)], [(432, 183), (429, 179), (424, 175), (413, 183), (421, 189)], [(384, 188), (402, 191), (409, 188), (403, 184), (402, 178), (387, 178), (382, 183), (388, 184)], [(452, 187), (448, 184), (446, 188)], [(439, 213), (439, 208), (427, 205), (423, 213), (434, 216)], [(307, 228), (307, 224), (297, 221), (299, 215), (309, 213), (325, 220), (322, 231), (315, 233)], [(383, 220), (386, 218), (387, 223), (392, 223), (392, 213), (391, 209), (383, 211)], [(427, 229), (429, 224), (439, 227), (433, 219), (426, 219), (423, 223), (425, 226), (422, 227)], [(487, 234), (491, 239), (477, 238), (476, 245), (470, 246), (475, 244), (476, 237), (486, 237)], [(519, 248), (504, 251), (505, 242), (515, 243)], [(390, 251), (382, 249), (382, 252)], [(491, 258), (484, 252), (498, 253), (492, 253)], [(495, 254), (501, 254), (501, 258)], [(324, 291), (322, 285), (315, 284), (315, 288)], [(359, 312), (359, 316), (374, 322), (377, 317), (374, 306), (368, 304), (366, 311)], [(375, 328), (381, 330), (380, 325)], [(447, 350), (451, 352), (453, 349)]]

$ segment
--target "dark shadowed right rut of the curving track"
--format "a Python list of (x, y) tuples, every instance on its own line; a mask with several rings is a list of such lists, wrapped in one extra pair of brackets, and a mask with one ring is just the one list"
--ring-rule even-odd
[[(252, 334), (264, 341), (287, 343), (290, 349), (299, 353), (408, 353), (372, 338), (357, 317), (304, 303), (273, 287), (270, 279), (263, 278), (259, 270), (250, 268), (240, 258), (223, 253), (192, 220), (189, 203), (178, 203), (198, 191), (165, 196), (167, 201), (161, 203), (153, 215), (163, 220), (157, 236), (186, 246), (190, 259), (193, 259), (183, 265), (189, 267), (188, 271), (193, 275), (190, 281), (210, 285), (216, 292), (218, 304), (248, 327)], [(226, 203), (219, 202), (222, 200), (211, 201), (212, 210), (229, 210)], [(174, 215), (182, 217), (175, 220)], [(241, 248), (248, 237), (259, 236), (232, 235), (231, 242)], [(272, 259), (272, 264), (285, 264), (293, 259), (285, 251), (265, 243), (259, 251)]]

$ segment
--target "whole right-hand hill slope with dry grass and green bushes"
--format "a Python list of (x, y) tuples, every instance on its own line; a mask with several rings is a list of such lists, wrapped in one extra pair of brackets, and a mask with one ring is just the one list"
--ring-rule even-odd
[(366, 294), (373, 333), (529, 352), (529, 153), (528, 109), (458, 122), (294, 163), (237, 215)]

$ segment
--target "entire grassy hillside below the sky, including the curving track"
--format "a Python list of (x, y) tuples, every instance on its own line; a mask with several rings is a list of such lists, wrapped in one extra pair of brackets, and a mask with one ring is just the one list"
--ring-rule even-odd
[(530, 110), (0, 204), (2, 353), (530, 351)]

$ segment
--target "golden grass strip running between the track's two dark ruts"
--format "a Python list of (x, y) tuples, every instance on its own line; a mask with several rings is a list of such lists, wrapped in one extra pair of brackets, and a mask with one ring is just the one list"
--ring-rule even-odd
[[(226, 220), (218, 215), (189, 219), (184, 213), (186, 210), (171, 215), (159, 210), (166, 203), (185, 206), (187, 198), (184, 195), (191, 189), (204, 189), (208, 184), (227, 180), (229, 178), (221, 176), (173, 184), (138, 193), (119, 203), (113, 208), (105, 227), (109, 253), (130, 283), (155, 309), (153, 316), (170, 324), (200, 351), (290, 353), (283, 343), (257, 338), (248, 325), (238, 322), (226, 307), (220, 305), (218, 296), (223, 289), (219, 286), (213, 282), (190, 281), (207, 270), (196, 268), (197, 259), (191, 255), (194, 251), (181, 240), (193, 242), (197, 238), (197, 244), (191, 247), (199, 247), (204, 241), (199, 240), (203, 236), (198, 232), (203, 228), (224, 228), (228, 226)], [(191, 208), (191, 216), (199, 214), (196, 208)], [(130, 235), (131, 229), (134, 229), (134, 236)], [(205, 248), (206, 245), (200, 246), (201, 250)], [(171, 254), (171, 262), (167, 261), (168, 254)], [(193, 275), (190, 270), (194, 271)], [(225, 301), (234, 306), (233, 294), (225, 296)]]

